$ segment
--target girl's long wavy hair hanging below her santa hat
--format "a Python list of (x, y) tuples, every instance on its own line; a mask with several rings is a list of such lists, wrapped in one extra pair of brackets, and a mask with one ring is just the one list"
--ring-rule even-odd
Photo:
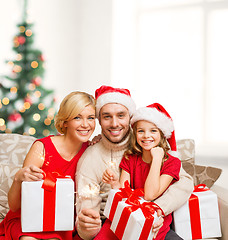
[[(165, 153), (165, 154), (164, 154), (163, 161), (162, 161), (162, 164), (163, 164), (164, 161), (165, 161), (166, 159), (168, 159), (168, 154), (167, 154), (167, 152), (170, 150), (170, 147), (169, 147), (169, 145), (168, 145), (168, 143), (167, 143), (167, 140), (166, 140), (163, 132), (162, 132), (159, 128), (158, 128), (158, 130), (159, 130), (160, 135), (161, 135), (161, 140), (160, 140), (158, 146), (161, 147), (161, 148), (163, 148), (164, 153)], [(129, 155), (135, 155), (135, 154), (136, 154), (136, 155), (142, 155), (143, 150), (142, 150), (142, 147), (141, 147), (141, 146), (138, 144), (138, 142), (137, 142), (136, 131), (137, 131), (137, 122), (134, 123), (134, 125), (133, 125), (133, 131), (132, 131), (133, 133), (132, 133), (132, 136), (131, 136), (130, 147), (129, 147), (128, 150), (126, 150), (126, 151), (124, 152), (124, 157), (125, 157), (126, 159), (129, 159)]]

